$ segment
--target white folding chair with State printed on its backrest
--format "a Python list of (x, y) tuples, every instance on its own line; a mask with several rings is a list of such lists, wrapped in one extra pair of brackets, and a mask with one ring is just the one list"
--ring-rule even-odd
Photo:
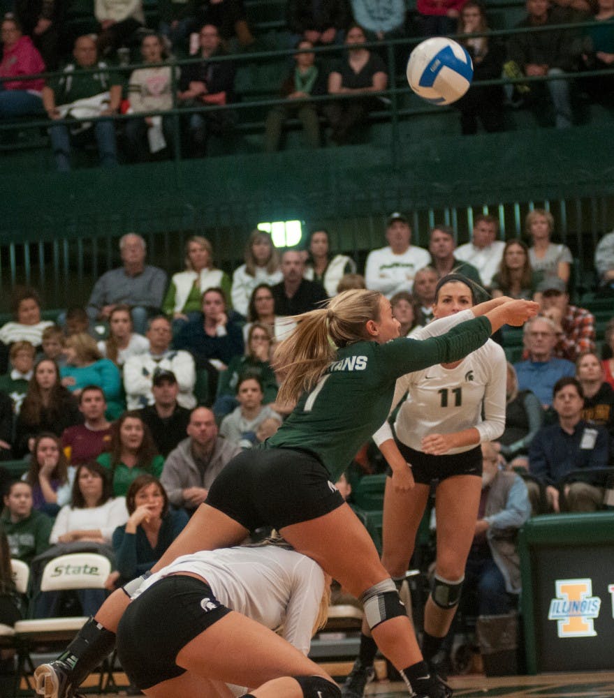
[[(68, 591), (72, 589), (103, 589), (111, 572), (108, 558), (97, 553), (73, 553), (50, 560), (43, 570), (41, 591)], [(31, 652), (39, 646), (65, 645), (87, 621), (87, 616), (68, 618), (35, 618), (15, 623), (17, 640), (17, 685), (25, 679), (34, 690), (29, 674), (34, 673)], [(102, 674), (101, 674), (102, 679)]]

